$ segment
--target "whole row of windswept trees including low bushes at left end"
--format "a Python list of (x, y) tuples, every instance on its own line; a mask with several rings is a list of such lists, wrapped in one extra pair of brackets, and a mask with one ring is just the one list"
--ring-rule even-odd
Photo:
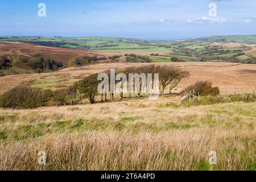
[[(110, 71), (105, 72), (108, 75), (109, 83), (111, 82)], [(182, 71), (177, 68), (167, 68), (160, 67), (155, 65), (147, 65), (144, 67), (131, 67), (125, 69), (118, 69), (115, 72), (115, 76), (118, 73), (123, 73), (122, 75), (126, 76), (127, 80), (127, 90), (129, 90), (129, 84), (135, 84), (135, 79), (130, 82), (129, 74), (138, 74), (147, 75), (148, 73), (152, 73), (152, 88), (159, 87), (160, 93), (164, 94), (164, 90), (169, 86), (169, 93), (172, 92), (174, 88), (179, 84), (179, 82), (187, 77), (189, 73), (187, 71)], [(159, 74), (159, 85), (155, 85), (155, 73)], [(115, 84), (119, 83), (122, 80), (115, 79)], [(98, 80), (98, 74), (93, 74), (85, 77), (84, 79), (75, 82), (75, 84), (69, 86), (65, 89), (60, 89), (56, 91), (52, 90), (40, 90), (33, 89), (28, 86), (19, 86), (14, 89), (11, 89), (0, 96), (0, 107), (4, 108), (15, 108), (15, 109), (33, 109), (36, 107), (48, 106), (48, 105), (75, 105), (81, 104), (84, 99), (88, 99), (91, 104), (96, 102), (96, 96), (101, 96), (101, 101), (108, 101), (108, 94), (110, 95), (110, 100), (114, 100), (115, 94), (117, 94), (121, 100), (125, 97), (125, 84), (120, 84), (116, 87), (117, 92), (110, 92), (110, 88), (104, 88), (104, 90), (108, 90), (102, 93), (98, 93), (98, 85), (101, 80)], [(138, 97), (145, 97), (142, 88), (143, 82), (142, 78), (139, 79)], [(108, 85), (110, 87), (110, 84)], [(147, 85), (148, 86), (148, 85)], [(155, 87), (156, 86), (156, 87)], [(127, 98), (131, 98), (134, 92), (127, 93)], [(117, 97), (118, 97), (117, 96)], [(105, 99), (104, 99), (105, 97)]]

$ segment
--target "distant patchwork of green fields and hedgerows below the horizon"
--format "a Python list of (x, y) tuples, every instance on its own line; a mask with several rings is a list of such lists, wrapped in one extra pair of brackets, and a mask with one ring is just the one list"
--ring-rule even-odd
[[(256, 43), (256, 36), (211, 36), (200, 39), (176, 41), (158, 41), (130, 38), (64, 38), (64, 37), (0, 37), (0, 42), (27, 42), (42, 46), (64, 47), (71, 49), (86, 49), (100, 53), (125, 55), (135, 53), (141, 56), (150, 56), (154, 62), (168, 62), (170, 57), (177, 57), (181, 61), (236, 61), (247, 63), (254, 59), (242, 53), (250, 47), (223, 47), (213, 46), (213, 42)], [(238, 54), (240, 53), (240, 54)], [(241, 57), (242, 56), (242, 57)], [(205, 59), (207, 57), (207, 59)], [(222, 58), (225, 58), (222, 60)]]

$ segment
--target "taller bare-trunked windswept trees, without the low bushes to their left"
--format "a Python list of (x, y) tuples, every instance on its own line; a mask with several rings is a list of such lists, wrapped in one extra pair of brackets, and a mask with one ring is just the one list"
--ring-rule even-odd
[[(109, 78), (109, 83), (110, 83), (110, 71), (105, 72), (106, 75), (108, 75)], [(123, 73), (123, 75), (126, 76), (127, 80), (127, 88), (129, 87), (129, 84), (131, 82), (129, 81), (129, 74), (138, 74), (142, 75), (145, 74), (147, 75), (148, 73), (152, 73), (152, 85), (154, 85), (154, 74), (158, 73), (159, 74), (159, 90), (160, 94), (164, 94), (164, 90), (168, 87), (169, 93), (172, 92), (176, 88), (176, 86), (179, 84), (179, 82), (189, 76), (189, 73), (187, 71), (182, 71), (181, 69), (177, 68), (167, 68), (167, 67), (160, 67), (160, 66), (155, 66), (155, 65), (147, 65), (144, 67), (130, 67), (130, 68), (125, 68), (125, 69), (118, 69), (115, 72), (115, 75), (118, 75), (119, 73)], [(82, 98), (88, 98), (90, 103), (94, 103), (95, 97), (97, 94), (101, 95), (101, 101), (103, 102), (108, 101), (107, 95), (110, 95), (110, 100), (114, 100), (114, 93), (110, 93), (110, 88), (107, 88), (105, 90), (109, 90), (109, 92), (102, 92), (98, 93), (97, 88), (98, 84), (100, 84), (101, 81), (97, 80), (98, 74), (93, 74), (88, 77), (85, 77), (83, 80), (76, 82), (74, 85), (69, 86), (68, 90), (68, 98), (69, 98), (69, 103), (71, 104), (77, 104), (77, 102), (82, 102)], [(123, 80), (115, 80), (115, 84), (117, 84), (119, 81)], [(133, 80), (133, 85), (134, 80)], [(110, 85), (109, 85), (110, 86)], [(117, 94), (121, 98), (121, 100), (124, 97), (124, 88), (125, 84), (119, 85), (119, 90)], [(145, 94), (142, 92), (142, 79), (139, 80), (139, 92), (138, 92), (138, 97), (144, 97)], [(104, 90), (104, 88), (102, 88)], [(128, 90), (128, 89), (127, 89)], [(131, 98), (132, 93), (128, 94), (128, 98)]]

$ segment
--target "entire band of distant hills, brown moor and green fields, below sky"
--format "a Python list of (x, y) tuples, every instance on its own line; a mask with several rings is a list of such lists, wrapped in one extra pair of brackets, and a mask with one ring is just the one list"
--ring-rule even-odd
[[(130, 57), (131, 55), (144, 56), (145, 60), (148, 59), (155, 63), (171, 63), (174, 61), (255, 63), (255, 37), (254, 35), (211, 36), (175, 41), (98, 37), (0, 37), (0, 56), (6, 55), (12, 62), (11, 68), (1, 69), (0, 67), (0, 76), (53, 72), (69, 66), (76, 66), (76, 63), (71, 65), (69, 61), (80, 56), (106, 57), (97, 61), (99, 63), (136, 63), (141, 60), (134, 59), (134, 57)], [(34, 55), (38, 55), (36, 61), (34, 61), (36, 64), (39, 64), (40, 59), (47, 62), (40, 66), (41, 71), (36, 70), (38, 65), (32, 63), (31, 66), (26, 61), (22, 61), (23, 57), (31, 59)], [(119, 57), (109, 59), (109, 56)], [(82, 59), (82, 63), (79, 61), (78, 65), (88, 64), (86, 59), (86, 57)], [(50, 63), (53, 69), (47, 69), (50, 67)], [(61, 63), (60, 67), (58, 67), (59, 63)], [(47, 68), (44, 69), (44, 67)]]

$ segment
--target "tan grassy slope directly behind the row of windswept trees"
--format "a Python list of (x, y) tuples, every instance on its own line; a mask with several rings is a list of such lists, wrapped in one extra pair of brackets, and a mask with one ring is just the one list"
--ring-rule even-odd
[[(66, 68), (54, 73), (24, 74), (0, 77), (0, 93), (3, 93), (15, 86), (33, 85), (35, 82), (46, 83), (43, 88), (64, 88), (81, 78), (92, 73), (103, 72), (110, 68), (141, 67), (143, 65), (156, 64), (163, 67), (177, 67), (189, 71), (191, 76), (184, 79), (178, 85), (176, 92), (184, 89), (196, 81), (209, 80), (213, 86), (218, 86), (222, 94), (253, 93), (256, 90), (256, 65), (236, 63), (100, 63), (91, 64), (79, 68)], [(49, 77), (55, 79), (49, 80)], [(65, 79), (63, 79), (65, 78)], [(52, 87), (47, 87), (47, 81), (54, 81)], [(50, 84), (51, 85), (51, 84)], [(168, 88), (167, 88), (168, 89)]]

